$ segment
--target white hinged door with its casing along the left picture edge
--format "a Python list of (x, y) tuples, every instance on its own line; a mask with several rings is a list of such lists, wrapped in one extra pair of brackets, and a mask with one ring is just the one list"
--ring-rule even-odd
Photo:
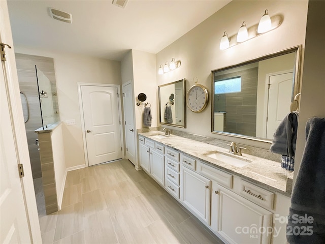
[(0, 67), (0, 243), (41, 243), (7, 1), (0, 1), (0, 42), (12, 47)]

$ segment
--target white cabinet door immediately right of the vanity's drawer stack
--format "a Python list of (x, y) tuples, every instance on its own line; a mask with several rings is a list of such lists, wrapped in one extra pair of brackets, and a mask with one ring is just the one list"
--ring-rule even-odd
[(181, 201), (197, 217), (210, 225), (211, 180), (181, 168)]

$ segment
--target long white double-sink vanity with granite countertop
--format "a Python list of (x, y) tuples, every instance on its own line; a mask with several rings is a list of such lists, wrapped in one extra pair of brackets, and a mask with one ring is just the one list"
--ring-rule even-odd
[(292, 172), (167, 132), (138, 133), (140, 166), (158, 184), (225, 243), (286, 243)]

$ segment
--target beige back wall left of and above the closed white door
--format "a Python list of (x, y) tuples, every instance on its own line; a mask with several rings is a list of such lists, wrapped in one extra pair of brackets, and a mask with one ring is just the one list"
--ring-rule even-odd
[[(56, 76), (59, 115), (67, 168), (85, 164), (78, 82), (121, 84), (120, 62), (89, 56), (51, 52), (49, 50), (15, 47), (19, 53), (52, 57)], [(64, 121), (75, 119), (76, 125), (67, 126)]]

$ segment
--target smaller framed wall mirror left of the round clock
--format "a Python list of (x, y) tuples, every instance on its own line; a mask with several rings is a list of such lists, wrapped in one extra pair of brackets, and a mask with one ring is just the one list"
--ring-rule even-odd
[(161, 125), (186, 128), (185, 78), (158, 86)]

